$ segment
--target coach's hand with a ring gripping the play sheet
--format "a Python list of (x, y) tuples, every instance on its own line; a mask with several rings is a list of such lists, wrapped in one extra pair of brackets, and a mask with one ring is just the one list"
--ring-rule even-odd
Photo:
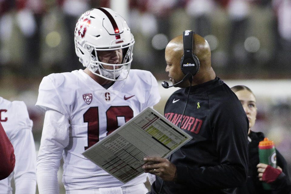
[(146, 163), (142, 166), (145, 172), (161, 177), (165, 181), (176, 181), (176, 166), (166, 158), (147, 157), (143, 159)]

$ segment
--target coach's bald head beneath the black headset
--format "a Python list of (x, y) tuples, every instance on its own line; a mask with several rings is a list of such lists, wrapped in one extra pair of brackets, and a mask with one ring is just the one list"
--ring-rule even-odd
[[(211, 79), (215, 78), (215, 72), (211, 67), (211, 52), (208, 42), (199, 36), (198, 34), (194, 34), (193, 36), (193, 53), (198, 57), (200, 61), (200, 69), (196, 75), (193, 77), (192, 85), (197, 85), (200, 83), (207, 82)], [(195, 44), (194, 44), (195, 43)], [(176, 82), (179, 82), (185, 76), (180, 68), (180, 61), (182, 56), (184, 55), (184, 46), (183, 46), (183, 35), (177, 36), (173, 38), (165, 50), (165, 59), (167, 64), (174, 65), (176, 72), (170, 72), (166, 68), (166, 72), (169, 72), (169, 77), (171, 80), (171, 76), (175, 76), (173, 74), (177, 74)], [(168, 65), (167, 65), (168, 67)], [(169, 68), (168, 68), (169, 69)], [(173, 82), (174, 84), (174, 82)], [(189, 82), (181, 84), (179, 87), (188, 87)]]

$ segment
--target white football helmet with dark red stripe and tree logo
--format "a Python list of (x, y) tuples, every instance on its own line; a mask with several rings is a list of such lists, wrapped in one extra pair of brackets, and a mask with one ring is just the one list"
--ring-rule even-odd
[[(85, 12), (75, 27), (75, 51), (79, 61), (102, 78), (121, 81), (126, 79), (132, 62), (134, 38), (125, 19), (109, 8), (96, 8)], [(101, 62), (97, 51), (122, 49), (121, 64)], [(113, 66), (105, 69), (103, 65)], [(117, 79), (122, 69), (127, 71), (123, 79)]]

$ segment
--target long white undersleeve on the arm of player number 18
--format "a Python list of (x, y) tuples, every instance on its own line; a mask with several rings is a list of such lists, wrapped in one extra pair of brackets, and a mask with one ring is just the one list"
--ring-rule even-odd
[(36, 179), (39, 194), (58, 194), (57, 172), (62, 152), (69, 144), (69, 120), (65, 115), (47, 110), (38, 151)]

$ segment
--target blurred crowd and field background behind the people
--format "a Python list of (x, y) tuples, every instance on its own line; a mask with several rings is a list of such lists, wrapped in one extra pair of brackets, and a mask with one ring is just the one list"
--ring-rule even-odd
[[(0, 96), (26, 103), (37, 150), (43, 124), (34, 106), (39, 83), (50, 73), (83, 68), (74, 28), (83, 12), (96, 7), (124, 16), (135, 38), (132, 69), (151, 71), (159, 82), (168, 80), (169, 40), (188, 29), (204, 37), (217, 76), (255, 93), (253, 130), (274, 140), (291, 172), (290, 0), (0, 0)], [(165, 90), (154, 107), (160, 113), (172, 91)]]

